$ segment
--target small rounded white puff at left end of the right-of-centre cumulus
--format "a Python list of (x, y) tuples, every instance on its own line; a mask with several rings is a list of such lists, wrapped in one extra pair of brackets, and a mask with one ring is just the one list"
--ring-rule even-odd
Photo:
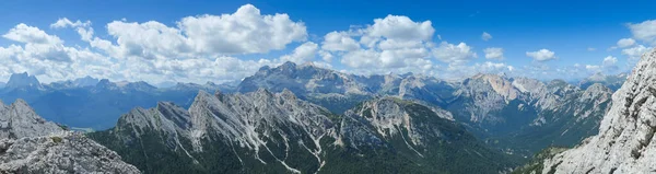
[(336, 51), (348, 51), (360, 48), (360, 44), (351, 38), (347, 32), (330, 32), (324, 36), (321, 49)]

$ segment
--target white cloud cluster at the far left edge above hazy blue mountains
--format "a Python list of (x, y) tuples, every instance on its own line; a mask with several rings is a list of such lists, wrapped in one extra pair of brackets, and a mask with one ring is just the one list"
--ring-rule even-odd
[[(117, 68), (108, 58), (89, 49), (67, 47), (59, 37), (38, 27), (19, 24), (5, 38), (22, 43), (0, 47), (0, 69), (5, 73), (30, 72), (48, 82), (87, 74), (105, 77)], [(7, 77), (5, 73), (0, 76)]]

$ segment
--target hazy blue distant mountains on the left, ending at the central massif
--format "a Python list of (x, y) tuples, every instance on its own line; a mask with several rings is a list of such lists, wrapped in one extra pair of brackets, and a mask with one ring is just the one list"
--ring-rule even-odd
[(157, 89), (143, 81), (112, 82), (91, 77), (42, 84), (34, 76), (16, 73), (0, 90), (0, 100), (23, 98), (48, 120), (103, 130), (113, 127), (120, 114), (133, 107), (153, 107), (159, 101), (188, 107), (198, 91), (231, 92), (233, 89), (233, 83), (177, 83), (172, 88)]

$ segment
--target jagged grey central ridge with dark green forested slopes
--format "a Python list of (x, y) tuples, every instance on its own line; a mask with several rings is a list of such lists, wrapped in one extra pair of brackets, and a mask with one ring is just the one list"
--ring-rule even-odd
[(134, 108), (90, 137), (145, 173), (496, 173), (512, 165), (448, 118), (391, 97), (340, 116), (284, 89), (201, 91), (188, 111)]

